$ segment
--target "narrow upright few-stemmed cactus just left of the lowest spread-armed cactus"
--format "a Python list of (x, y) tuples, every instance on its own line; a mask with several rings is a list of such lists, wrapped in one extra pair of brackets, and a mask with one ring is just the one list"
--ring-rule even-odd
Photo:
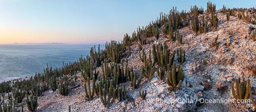
[(88, 88), (86, 87), (86, 83), (84, 83), (83, 88), (85, 89), (85, 97), (86, 100), (92, 100), (94, 97), (94, 92), (96, 91), (96, 85), (95, 85), (95, 76), (92, 76), (92, 90), (91, 90), (91, 86), (90, 86), (90, 78), (87, 77), (87, 85)]

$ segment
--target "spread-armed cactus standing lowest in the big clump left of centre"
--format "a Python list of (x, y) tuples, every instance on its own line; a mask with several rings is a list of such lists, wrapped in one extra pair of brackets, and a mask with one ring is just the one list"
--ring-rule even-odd
[[(108, 91), (108, 97), (106, 97), (106, 89), (103, 88), (101, 82), (98, 82), (99, 85), (99, 93), (100, 93), (100, 101), (103, 103), (103, 105), (105, 106), (105, 108), (107, 108), (108, 106), (110, 106), (111, 104), (113, 104), (113, 102), (115, 101), (115, 96), (116, 96), (116, 92), (113, 92), (113, 80), (110, 81), (110, 86), (109, 86), (109, 91)], [(113, 94), (113, 95), (112, 95)], [(111, 99), (112, 98), (112, 99)]]

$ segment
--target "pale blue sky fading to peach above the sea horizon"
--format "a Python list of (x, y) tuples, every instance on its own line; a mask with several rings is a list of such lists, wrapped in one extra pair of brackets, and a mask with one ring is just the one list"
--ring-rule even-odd
[[(206, 9), (208, 1), (0, 1), (0, 44), (12, 43), (105, 43), (122, 40), (138, 26), (145, 26), (169, 13), (172, 7), (190, 10), (197, 5)], [(255, 7), (255, 0), (211, 1), (217, 9)]]

